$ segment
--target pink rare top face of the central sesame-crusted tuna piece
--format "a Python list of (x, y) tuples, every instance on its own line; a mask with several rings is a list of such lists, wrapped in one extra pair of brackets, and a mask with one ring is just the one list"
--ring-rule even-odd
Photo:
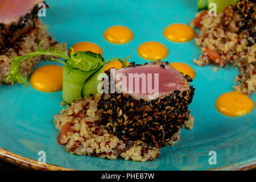
[[(126, 80), (123, 80), (122, 77), (118, 79), (117, 75), (119, 73), (125, 75)], [(160, 97), (174, 90), (189, 89), (189, 83), (179, 71), (174, 68), (161, 68), (160, 65), (122, 68), (115, 73), (115, 77), (117, 79), (116, 82), (122, 83), (122, 92), (126, 88), (126, 93), (132, 93), (133, 96), (142, 98), (155, 94), (152, 92), (158, 92), (157, 97)], [(125, 85), (125, 88), (123, 85)]]

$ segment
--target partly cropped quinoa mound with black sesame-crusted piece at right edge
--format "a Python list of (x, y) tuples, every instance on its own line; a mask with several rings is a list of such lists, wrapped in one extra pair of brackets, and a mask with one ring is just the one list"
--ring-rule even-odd
[(234, 78), (238, 82), (234, 89), (243, 94), (256, 92), (255, 10), (254, 1), (243, 0), (235, 7), (226, 7), (216, 17), (202, 11), (191, 22), (191, 26), (200, 28), (195, 40), (204, 53), (194, 60), (195, 64), (204, 66), (213, 61), (220, 67), (226, 64), (237, 67), (240, 75)]

